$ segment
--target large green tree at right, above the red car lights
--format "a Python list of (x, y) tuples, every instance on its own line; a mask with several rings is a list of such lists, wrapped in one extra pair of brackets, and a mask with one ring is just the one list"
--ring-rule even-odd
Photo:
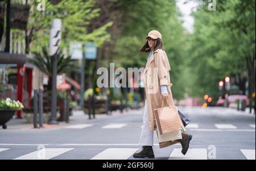
[(188, 36), (189, 92), (218, 97), (218, 81), (247, 70), (250, 94), (255, 91), (255, 1), (218, 1), (217, 11), (208, 1), (193, 12), (194, 32)]

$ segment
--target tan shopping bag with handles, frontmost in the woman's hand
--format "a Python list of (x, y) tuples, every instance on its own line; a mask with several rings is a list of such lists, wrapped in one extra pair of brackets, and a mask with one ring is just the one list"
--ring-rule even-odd
[(164, 100), (162, 100), (162, 107), (155, 109), (155, 119), (160, 134), (179, 131), (183, 128), (177, 107), (170, 106), (167, 100), (166, 102), (168, 107), (163, 107)]

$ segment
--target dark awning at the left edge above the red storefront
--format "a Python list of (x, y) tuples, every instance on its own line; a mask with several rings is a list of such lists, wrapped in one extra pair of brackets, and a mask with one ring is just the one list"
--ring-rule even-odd
[(27, 61), (26, 55), (0, 52), (0, 64), (24, 65)]

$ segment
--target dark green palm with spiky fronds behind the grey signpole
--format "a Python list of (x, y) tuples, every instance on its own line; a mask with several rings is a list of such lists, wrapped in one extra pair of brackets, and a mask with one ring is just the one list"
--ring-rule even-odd
[[(28, 59), (31, 64), (34, 64), (39, 70), (47, 74), (49, 77), (47, 90), (52, 89), (52, 56), (49, 55), (47, 47), (42, 48), (42, 53), (32, 52), (35, 57)], [(75, 60), (71, 56), (64, 57), (62, 51), (57, 52), (57, 74), (68, 73), (74, 70)]]

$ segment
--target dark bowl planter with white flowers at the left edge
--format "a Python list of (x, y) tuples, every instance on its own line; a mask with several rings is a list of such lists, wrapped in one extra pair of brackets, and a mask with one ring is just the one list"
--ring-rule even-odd
[(19, 101), (13, 101), (10, 98), (0, 101), (0, 126), (6, 129), (6, 123), (13, 118), (17, 110), (22, 110), (23, 105)]

